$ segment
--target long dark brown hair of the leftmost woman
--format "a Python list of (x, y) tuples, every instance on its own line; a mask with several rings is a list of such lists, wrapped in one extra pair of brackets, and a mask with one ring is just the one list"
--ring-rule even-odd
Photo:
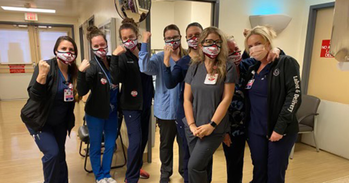
[(81, 100), (82, 97), (80, 97), (78, 94), (77, 94), (77, 90), (76, 90), (76, 84), (77, 84), (77, 65), (76, 65), (76, 58), (77, 58), (77, 46), (76, 46), (76, 43), (75, 41), (69, 37), (69, 36), (60, 36), (58, 37), (56, 43), (54, 44), (54, 48), (53, 48), (53, 53), (54, 55), (57, 55), (56, 54), (56, 51), (58, 51), (58, 47), (59, 47), (59, 44), (62, 42), (62, 41), (69, 41), (73, 44), (73, 47), (74, 47), (74, 52), (75, 52), (75, 61), (72, 62), (70, 64), (70, 69), (68, 70), (69, 71), (69, 74), (70, 76), (72, 77), (72, 80), (73, 80), (73, 85), (74, 85), (74, 99), (76, 102), (79, 102)]

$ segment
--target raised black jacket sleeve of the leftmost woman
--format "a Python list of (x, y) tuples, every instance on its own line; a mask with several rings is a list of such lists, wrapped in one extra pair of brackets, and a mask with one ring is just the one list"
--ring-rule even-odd
[[(51, 72), (51, 71), (50, 71)], [(39, 66), (36, 66), (34, 69), (34, 73), (31, 77), (29, 86), (28, 86), (28, 95), (29, 98), (34, 100), (34, 101), (41, 101), (45, 100), (46, 95), (47, 95), (47, 89), (46, 85), (49, 82), (49, 75), (50, 72), (46, 76), (46, 84), (40, 84), (36, 81), (36, 78), (39, 75)]]

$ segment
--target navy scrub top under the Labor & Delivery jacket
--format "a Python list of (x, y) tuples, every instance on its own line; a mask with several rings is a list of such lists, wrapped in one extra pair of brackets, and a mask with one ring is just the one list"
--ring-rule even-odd
[(263, 70), (256, 72), (252, 88), (248, 90), (251, 104), (251, 119), (248, 124), (248, 131), (257, 135), (267, 135), (268, 128), (268, 73), (270, 65)]

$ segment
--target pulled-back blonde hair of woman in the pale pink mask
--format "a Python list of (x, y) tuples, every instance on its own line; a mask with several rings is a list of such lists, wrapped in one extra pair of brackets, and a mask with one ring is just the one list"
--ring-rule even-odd
[(248, 38), (250, 38), (252, 35), (262, 36), (265, 43), (269, 43), (270, 49), (274, 48), (272, 40), (276, 37), (276, 33), (273, 30), (273, 28), (270, 26), (256, 26), (250, 31), (248, 31), (246, 35), (245, 50), (247, 51), (247, 53), (250, 53), (250, 49), (248, 48), (247, 41), (248, 41)]

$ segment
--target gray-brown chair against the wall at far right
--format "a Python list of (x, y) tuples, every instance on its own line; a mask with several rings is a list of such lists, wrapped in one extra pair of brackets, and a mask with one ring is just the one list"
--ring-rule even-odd
[[(320, 105), (320, 99), (310, 95), (302, 95), (302, 104), (297, 111), (297, 119), (299, 125), (299, 132), (302, 133), (313, 133), (316, 151), (319, 152), (319, 147), (317, 144), (317, 115), (319, 115), (318, 108)], [(290, 159), (293, 159), (293, 154), (295, 152), (295, 145), (293, 145)]]

